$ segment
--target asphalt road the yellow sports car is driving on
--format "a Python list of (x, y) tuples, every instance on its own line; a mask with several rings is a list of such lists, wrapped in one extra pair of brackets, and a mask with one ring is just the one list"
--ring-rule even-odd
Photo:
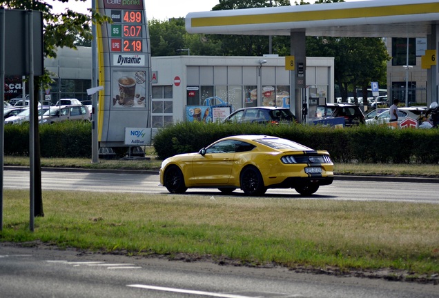
[[(96, 192), (142, 192), (168, 194), (159, 186), (159, 177), (153, 172), (135, 171), (43, 171), (43, 190), (80, 190)], [(358, 200), (358, 201), (407, 201), (414, 203), (439, 203), (439, 179), (396, 178), (396, 177), (335, 177), (330, 186), (322, 186), (313, 199)], [(29, 172), (6, 170), (3, 187), (29, 188)], [(236, 196), (244, 192), (236, 190)], [(189, 189), (186, 195), (217, 195), (217, 189)], [(300, 198), (292, 189), (268, 190), (265, 197)]]

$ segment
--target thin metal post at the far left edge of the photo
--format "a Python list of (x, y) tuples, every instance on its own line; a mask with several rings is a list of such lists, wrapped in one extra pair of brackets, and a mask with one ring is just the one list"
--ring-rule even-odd
[[(5, 9), (0, 8), (0, 101), (5, 100)], [(0, 108), (0, 119), (4, 119), (4, 110)], [(3, 152), (5, 141), (5, 122), (0, 123), (0, 232), (3, 230)]]

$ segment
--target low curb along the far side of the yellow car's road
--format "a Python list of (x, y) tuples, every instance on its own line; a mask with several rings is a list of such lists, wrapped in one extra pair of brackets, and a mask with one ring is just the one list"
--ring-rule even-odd
[[(4, 170), (29, 170), (25, 166), (4, 166)], [(41, 168), (46, 172), (96, 172), (132, 175), (159, 175), (158, 170), (117, 170), (117, 169), (88, 169), (88, 168)], [(335, 175), (334, 180), (339, 181), (389, 181), (402, 183), (439, 183), (437, 177), (413, 177), (413, 176), (385, 176), (385, 175)]]

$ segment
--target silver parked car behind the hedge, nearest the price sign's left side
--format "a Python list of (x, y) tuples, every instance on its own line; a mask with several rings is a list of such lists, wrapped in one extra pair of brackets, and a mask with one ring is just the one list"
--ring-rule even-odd
[(86, 106), (52, 106), (44, 113), (40, 123), (66, 120), (90, 121), (90, 110)]

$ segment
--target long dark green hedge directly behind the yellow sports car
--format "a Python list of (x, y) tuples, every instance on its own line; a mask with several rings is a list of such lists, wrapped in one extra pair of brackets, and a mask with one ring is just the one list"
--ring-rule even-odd
[(315, 150), (328, 150), (337, 162), (439, 163), (439, 130), (391, 129), (358, 126), (334, 129), (323, 126), (261, 126), (182, 122), (157, 132), (153, 144), (159, 159), (197, 152), (231, 135), (273, 135)]

